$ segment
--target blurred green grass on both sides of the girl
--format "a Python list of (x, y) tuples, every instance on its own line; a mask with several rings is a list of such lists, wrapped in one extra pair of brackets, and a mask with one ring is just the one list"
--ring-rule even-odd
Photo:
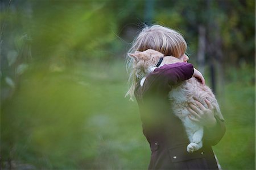
[[(2, 167), (147, 169), (150, 148), (136, 102), (124, 98), (122, 60), (34, 65), (1, 107)], [(225, 86), (226, 134), (214, 146), (223, 169), (255, 168), (255, 86)]]

